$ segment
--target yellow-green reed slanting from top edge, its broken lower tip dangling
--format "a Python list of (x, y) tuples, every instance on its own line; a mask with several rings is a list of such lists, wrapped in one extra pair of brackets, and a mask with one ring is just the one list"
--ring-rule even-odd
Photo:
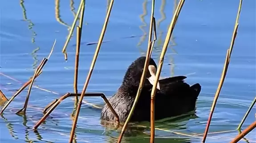
[[(84, 3), (85, 3), (85, 0), (81, 0), (81, 3), (80, 3), (79, 8), (78, 8), (78, 10), (77, 10), (77, 15), (76, 15), (76, 17), (75, 17), (75, 19), (74, 19), (74, 21), (73, 21), (73, 24), (72, 24), (71, 29), (70, 29), (70, 31), (69, 31), (68, 38), (67, 38), (67, 40), (66, 40), (66, 42), (65, 42), (65, 45), (64, 45), (64, 47), (63, 47), (63, 49), (62, 49), (62, 53), (65, 54), (65, 55), (66, 55), (66, 48), (67, 48), (67, 46), (68, 46), (68, 44), (69, 44), (69, 40), (70, 40), (70, 38), (71, 38), (71, 35), (72, 35), (72, 33), (73, 33), (73, 31), (74, 31), (74, 28), (75, 28), (75, 25), (76, 25), (76, 23), (77, 23), (77, 18), (78, 18), (78, 16), (79, 16), (80, 12), (81, 12), (81, 8), (82, 8), (82, 6), (84, 5)], [(65, 60), (67, 60), (67, 59), (65, 58)]]

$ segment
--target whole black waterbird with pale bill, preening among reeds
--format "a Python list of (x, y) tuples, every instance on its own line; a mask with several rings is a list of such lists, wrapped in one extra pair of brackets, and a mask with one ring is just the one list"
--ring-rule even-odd
[[(134, 103), (145, 61), (146, 57), (139, 57), (131, 63), (123, 78), (122, 85), (109, 99), (120, 122), (126, 121)], [(156, 63), (150, 58), (146, 80), (130, 122), (150, 121), (150, 95), (156, 69)], [(179, 116), (195, 110), (195, 102), (201, 91), (201, 86), (198, 83), (190, 86), (183, 81), (185, 78), (187, 77), (176, 76), (158, 81), (155, 94), (155, 120)], [(102, 109), (101, 119), (114, 121), (114, 115), (106, 104)]]

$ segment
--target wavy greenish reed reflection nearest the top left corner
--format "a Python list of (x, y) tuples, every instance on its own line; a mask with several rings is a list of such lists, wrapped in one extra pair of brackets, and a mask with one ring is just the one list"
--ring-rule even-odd
[(32, 53), (30, 53), (32, 56), (33, 56), (33, 60), (34, 60), (34, 63), (32, 65), (32, 69), (36, 69), (37, 67), (37, 63), (39, 62), (39, 60), (37, 59), (37, 51), (40, 50), (40, 47), (37, 46), (36, 44), (36, 36), (37, 36), (37, 33), (33, 30), (33, 26), (34, 26), (34, 23), (27, 18), (27, 12), (26, 12), (26, 8), (25, 8), (25, 5), (24, 5), (24, 0), (20, 0), (20, 7), (22, 8), (22, 13), (23, 13), (23, 20), (24, 21), (27, 21), (28, 22), (28, 29), (30, 31), (32, 31), (32, 39), (31, 39), (31, 42), (33, 44), (35, 44), (36, 48), (32, 51)]

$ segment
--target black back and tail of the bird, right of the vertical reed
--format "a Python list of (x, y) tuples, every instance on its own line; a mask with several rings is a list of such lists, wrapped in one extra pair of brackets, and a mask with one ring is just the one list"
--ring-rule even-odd
[(188, 85), (186, 77), (169, 77), (159, 81), (160, 89), (155, 95), (155, 120), (179, 116), (195, 110), (195, 103), (201, 91), (199, 84)]

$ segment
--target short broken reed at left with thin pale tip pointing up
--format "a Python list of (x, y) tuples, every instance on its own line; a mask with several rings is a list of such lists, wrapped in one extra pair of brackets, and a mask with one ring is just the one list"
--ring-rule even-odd
[(48, 58), (43, 58), (43, 60), (40, 63), (40, 65), (37, 67), (37, 70), (35, 70), (34, 76), (32, 77), (32, 81), (31, 81), (31, 83), (29, 85), (29, 88), (28, 88), (28, 94), (27, 94), (26, 100), (24, 102), (24, 106), (18, 112), (16, 112), (16, 114), (20, 114), (20, 113), (25, 114), (26, 113), (27, 106), (28, 106), (28, 99), (29, 99), (29, 95), (30, 95), (30, 92), (31, 92), (31, 89), (32, 89), (32, 86), (33, 86), (33, 82), (35, 81), (37, 74), (42, 71), (43, 67), (45, 66), (45, 64), (47, 63), (49, 58), (51, 57), (51, 55), (53, 53), (53, 49), (54, 49), (55, 43), (56, 43), (56, 39), (54, 40), (54, 43), (53, 43), (53, 46), (52, 46), (52, 50), (51, 50)]

